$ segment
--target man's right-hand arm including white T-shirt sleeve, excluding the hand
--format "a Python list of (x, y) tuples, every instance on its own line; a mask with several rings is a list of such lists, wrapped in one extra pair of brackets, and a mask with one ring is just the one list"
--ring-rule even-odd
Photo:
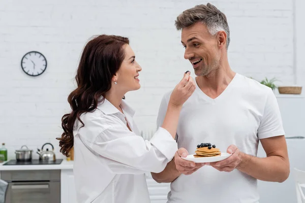
[(277, 98), (269, 88), (257, 131), (266, 158), (240, 154), (237, 169), (263, 181), (284, 182), (290, 173), (287, 145)]

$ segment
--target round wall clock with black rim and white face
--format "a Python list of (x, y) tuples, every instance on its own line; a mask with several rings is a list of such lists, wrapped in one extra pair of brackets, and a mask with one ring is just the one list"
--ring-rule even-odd
[(22, 57), (21, 67), (27, 75), (39, 76), (46, 70), (47, 60), (41, 53), (31, 51)]

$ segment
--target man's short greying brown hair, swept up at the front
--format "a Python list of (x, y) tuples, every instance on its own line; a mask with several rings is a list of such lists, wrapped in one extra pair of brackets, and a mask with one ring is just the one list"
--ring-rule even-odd
[(180, 30), (197, 22), (204, 23), (211, 35), (215, 35), (217, 32), (224, 30), (227, 34), (226, 48), (228, 50), (230, 30), (227, 17), (224, 13), (210, 3), (207, 3), (207, 5), (197, 5), (194, 8), (182, 12), (175, 20), (175, 26), (177, 30)]

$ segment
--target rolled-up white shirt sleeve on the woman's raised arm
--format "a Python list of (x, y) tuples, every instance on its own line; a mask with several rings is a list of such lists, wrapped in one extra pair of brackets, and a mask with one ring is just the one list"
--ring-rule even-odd
[(107, 165), (116, 174), (160, 173), (177, 151), (170, 133), (159, 128), (149, 141), (125, 126), (115, 125), (103, 130), (91, 148), (109, 159)]

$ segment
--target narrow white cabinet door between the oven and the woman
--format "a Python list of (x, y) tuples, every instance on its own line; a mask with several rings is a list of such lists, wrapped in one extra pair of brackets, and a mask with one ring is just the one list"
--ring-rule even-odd
[(62, 170), (61, 173), (61, 203), (75, 203), (76, 192), (73, 170)]

